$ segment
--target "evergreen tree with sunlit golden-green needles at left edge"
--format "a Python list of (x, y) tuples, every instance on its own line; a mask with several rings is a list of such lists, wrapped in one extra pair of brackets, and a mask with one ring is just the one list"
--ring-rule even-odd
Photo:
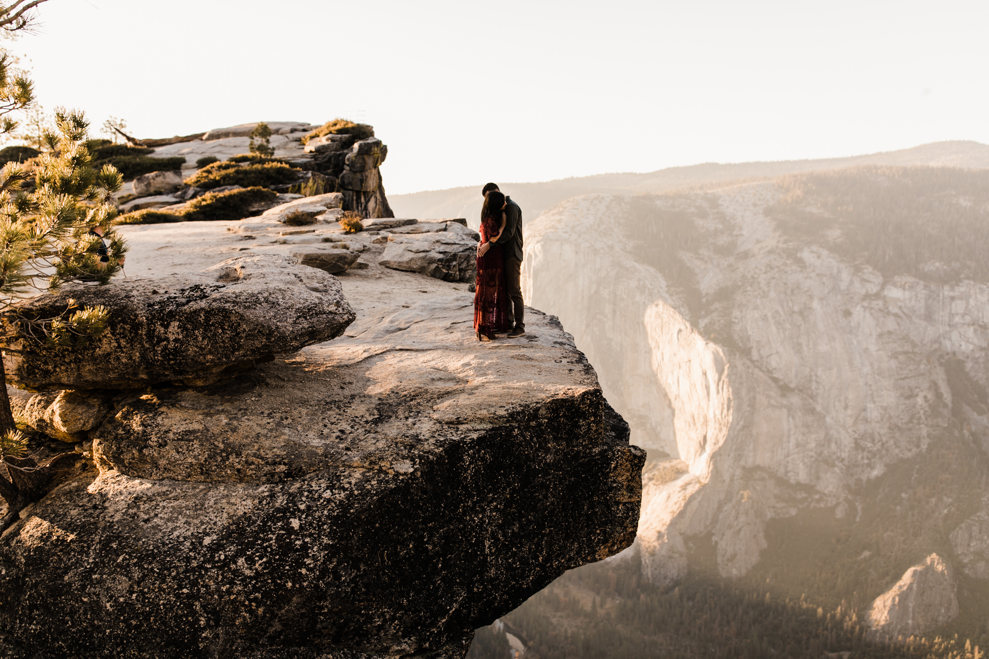
[[(44, 0), (0, 5), (0, 28), (23, 30), (27, 12)], [(34, 101), (31, 80), (11, 71), (9, 58), (0, 55), (0, 136), (13, 133), (17, 122), (10, 115)], [(32, 344), (49, 350), (82, 348), (102, 331), (107, 310), (70, 305), (61, 316), (25, 318), (18, 303), (44, 289), (67, 281), (106, 284), (124, 265), (127, 247), (115, 235), (117, 216), (114, 193), (123, 177), (113, 166), (92, 167), (87, 147), (89, 124), (81, 112), (55, 112), (58, 135), (48, 136), (52, 150), (25, 165), (10, 162), (0, 170), (0, 347), (8, 343)], [(100, 234), (103, 234), (103, 237)], [(0, 362), (0, 369), (3, 368)], [(6, 379), (6, 373), (4, 373)], [(43, 491), (52, 464), (39, 465), (27, 455), (27, 439), (17, 429), (6, 386), (0, 386), (0, 496), (8, 505), (8, 518)], [(6, 526), (8, 519), (0, 522)]]

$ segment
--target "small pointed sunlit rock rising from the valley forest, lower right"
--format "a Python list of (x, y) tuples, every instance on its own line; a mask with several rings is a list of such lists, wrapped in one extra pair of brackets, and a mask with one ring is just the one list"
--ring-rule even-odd
[(957, 617), (956, 589), (951, 566), (931, 554), (875, 599), (865, 621), (878, 639), (896, 641), (923, 634)]

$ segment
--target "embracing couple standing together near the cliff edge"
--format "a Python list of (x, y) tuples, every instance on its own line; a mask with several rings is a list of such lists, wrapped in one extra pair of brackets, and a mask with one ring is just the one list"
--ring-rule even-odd
[(481, 243), (474, 294), (474, 330), (478, 340), (525, 333), (522, 302), (522, 209), (501, 194), (494, 183), (482, 190)]

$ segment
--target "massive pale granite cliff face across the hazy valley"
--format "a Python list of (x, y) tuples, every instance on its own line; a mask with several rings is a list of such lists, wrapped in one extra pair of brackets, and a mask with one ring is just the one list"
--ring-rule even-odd
[(957, 609), (925, 619), (979, 632), (987, 221), (989, 172), (870, 166), (588, 195), (527, 227), (527, 301), (573, 331), (650, 449), (645, 578), (864, 618), (937, 553)]

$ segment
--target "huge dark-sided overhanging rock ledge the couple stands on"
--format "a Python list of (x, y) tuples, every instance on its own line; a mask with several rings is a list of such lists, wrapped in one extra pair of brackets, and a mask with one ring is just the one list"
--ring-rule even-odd
[(628, 546), (644, 455), (572, 337), (533, 311), (525, 339), (481, 343), (471, 296), (431, 300), (118, 399), (97, 468), (3, 535), (7, 653), (459, 659)]

